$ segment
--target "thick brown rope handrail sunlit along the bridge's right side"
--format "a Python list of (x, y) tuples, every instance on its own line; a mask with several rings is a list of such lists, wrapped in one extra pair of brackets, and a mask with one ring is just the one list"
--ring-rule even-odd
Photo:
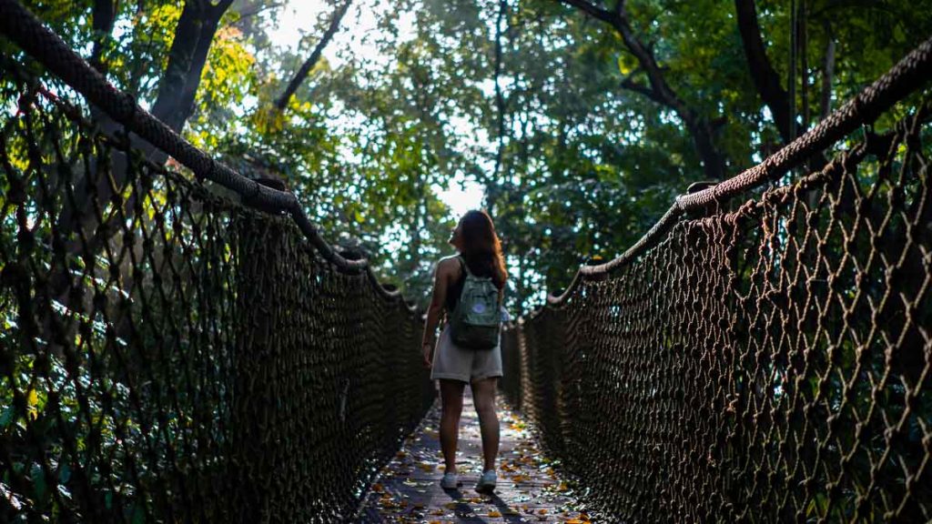
[(859, 92), (829, 117), (805, 134), (764, 159), (760, 164), (740, 172), (720, 184), (696, 193), (680, 195), (664, 216), (622, 255), (596, 266), (581, 266), (566, 290), (547, 296), (555, 306), (569, 298), (586, 278), (619, 269), (642, 255), (660, 241), (686, 212), (701, 211), (709, 204), (724, 203), (751, 189), (783, 176), (811, 155), (841, 140), (862, 124), (872, 122), (907, 94), (932, 79), (932, 37), (913, 49), (897, 65)]

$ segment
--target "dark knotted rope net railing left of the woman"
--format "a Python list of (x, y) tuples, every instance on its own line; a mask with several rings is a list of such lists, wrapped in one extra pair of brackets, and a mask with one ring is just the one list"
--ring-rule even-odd
[(432, 404), (418, 312), (295, 209), (0, 76), (0, 521), (351, 515)]

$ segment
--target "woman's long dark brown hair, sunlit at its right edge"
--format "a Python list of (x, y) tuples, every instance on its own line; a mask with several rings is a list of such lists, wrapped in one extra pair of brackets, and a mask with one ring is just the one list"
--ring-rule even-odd
[(499, 289), (505, 287), (508, 270), (501, 255), (501, 241), (495, 234), (492, 217), (485, 211), (473, 210), (459, 219), (460, 255), (476, 274), (489, 275)]

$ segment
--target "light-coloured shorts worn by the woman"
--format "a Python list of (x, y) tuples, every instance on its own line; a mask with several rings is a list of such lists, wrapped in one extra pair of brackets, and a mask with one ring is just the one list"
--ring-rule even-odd
[(501, 338), (490, 350), (460, 348), (450, 339), (445, 325), (433, 350), (431, 379), (454, 379), (463, 382), (501, 377)]

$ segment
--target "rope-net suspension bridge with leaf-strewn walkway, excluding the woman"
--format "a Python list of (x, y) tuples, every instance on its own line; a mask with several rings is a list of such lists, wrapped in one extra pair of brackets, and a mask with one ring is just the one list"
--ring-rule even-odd
[(932, 520), (932, 39), (510, 324), (514, 475), (444, 503), (418, 311), (292, 193), (0, 12), (119, 125), (4, 57), (0, 519)]

